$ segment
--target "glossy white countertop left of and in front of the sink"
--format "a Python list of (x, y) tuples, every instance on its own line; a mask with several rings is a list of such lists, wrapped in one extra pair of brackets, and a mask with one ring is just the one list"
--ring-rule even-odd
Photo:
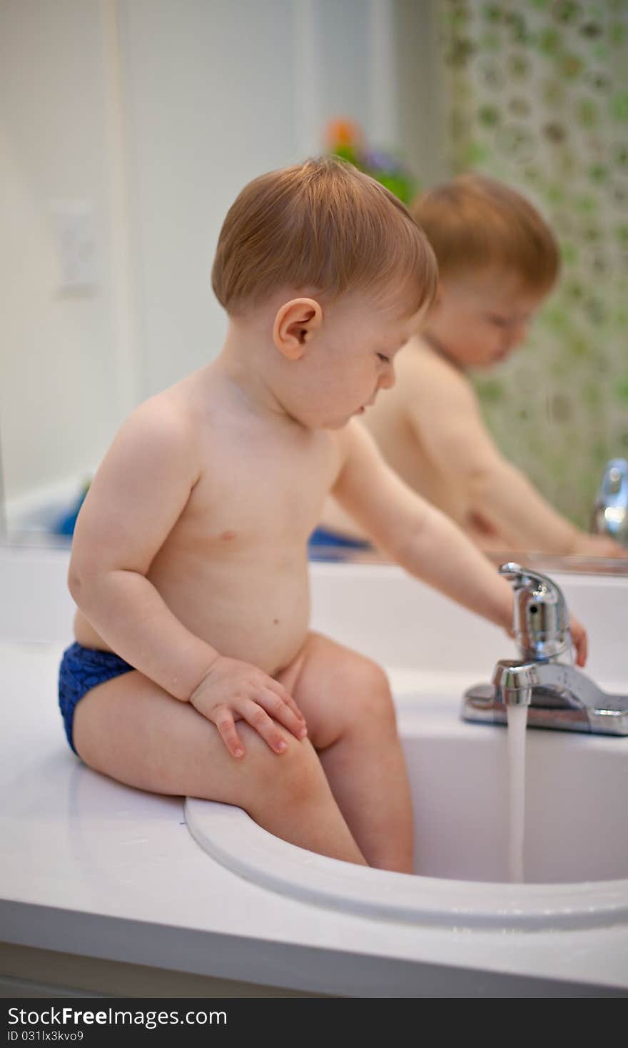
[(350, 997), (577, 996), (569, 982), (587, 997), (628, 990), (623, 924), (409, 926), (231, 873), (190, 835), (182, 800), (121, 786), (71, 754), (56, 697), (63, 647), (0, 642), (0, 939)]

